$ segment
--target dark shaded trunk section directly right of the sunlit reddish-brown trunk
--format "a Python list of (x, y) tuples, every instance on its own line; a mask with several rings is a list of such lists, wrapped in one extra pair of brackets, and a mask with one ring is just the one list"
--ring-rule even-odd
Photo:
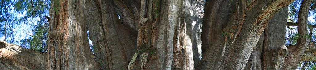
[(104, 70), (128, 69), (128, 63), (136, 52), (136, 33), (129, 29), (128, 24), (119, 21), (114, 8), (113, 1), (87, 1), (89, 36), (96, 62)]

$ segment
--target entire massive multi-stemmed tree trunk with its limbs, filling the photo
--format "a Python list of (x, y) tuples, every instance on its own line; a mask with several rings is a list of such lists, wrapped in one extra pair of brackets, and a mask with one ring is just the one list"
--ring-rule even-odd
[[(293, 1), (208, 0), (204, 8), (203, 0), (52, 0), (47, 52), (0, 41), (0, 69), (295, 69), (316, 51), (305, 51), (307, 38), (284, 45), (284, 7)], [(310, 2), (300, 9), (302, 36)]]

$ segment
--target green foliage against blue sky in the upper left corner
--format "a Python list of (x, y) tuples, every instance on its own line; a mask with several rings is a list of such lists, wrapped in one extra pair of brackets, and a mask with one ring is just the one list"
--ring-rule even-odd
[[(21, 38), (33, 38), (32, 42), (35, 42), (38, 39), (34, 37), (40, 37), (35, 34), (40, 31), (33, 32), (34, 37), (30, 35), (22, 37), (20, 34), (23, 33), (22, 30), (32, 32), (29, 30), (43, 29), (37, 25), (47, 24), (44, 16), (49, 13), (50, 0), (0, 0), (0, 5), (0, 38), (4, 37), (7, 42), (21, 45), (24, 48), (33, 48), (28, 46), (29, 43), (23, 43), (22, 41), (27, 40), (21, 40)], [(23, 25), (27, 25), (29, 28), (21, 28)], [(37, 46), (34, 43), (30, 45)]]

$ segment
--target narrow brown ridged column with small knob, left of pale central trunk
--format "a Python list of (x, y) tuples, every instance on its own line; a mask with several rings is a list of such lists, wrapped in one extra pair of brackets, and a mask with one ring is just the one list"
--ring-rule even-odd
[[(155, 59), (155, 40), (157, 39), (158, 24), (160, 20), (161, 0), (142, 0), (140, 14), (137, 19), (137, 55), (140, 62), (137, 64), (141, 70), (146, 70), (149, 60)], [(162, 63), (161, 63), (162, 64)]]

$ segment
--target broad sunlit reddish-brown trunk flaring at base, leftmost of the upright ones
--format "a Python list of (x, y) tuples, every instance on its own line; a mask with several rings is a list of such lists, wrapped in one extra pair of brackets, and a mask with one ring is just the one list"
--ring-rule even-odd
[(52, 0), (50, 7), (45, 69), (96, 69), (83, 20), (84, 0)]

